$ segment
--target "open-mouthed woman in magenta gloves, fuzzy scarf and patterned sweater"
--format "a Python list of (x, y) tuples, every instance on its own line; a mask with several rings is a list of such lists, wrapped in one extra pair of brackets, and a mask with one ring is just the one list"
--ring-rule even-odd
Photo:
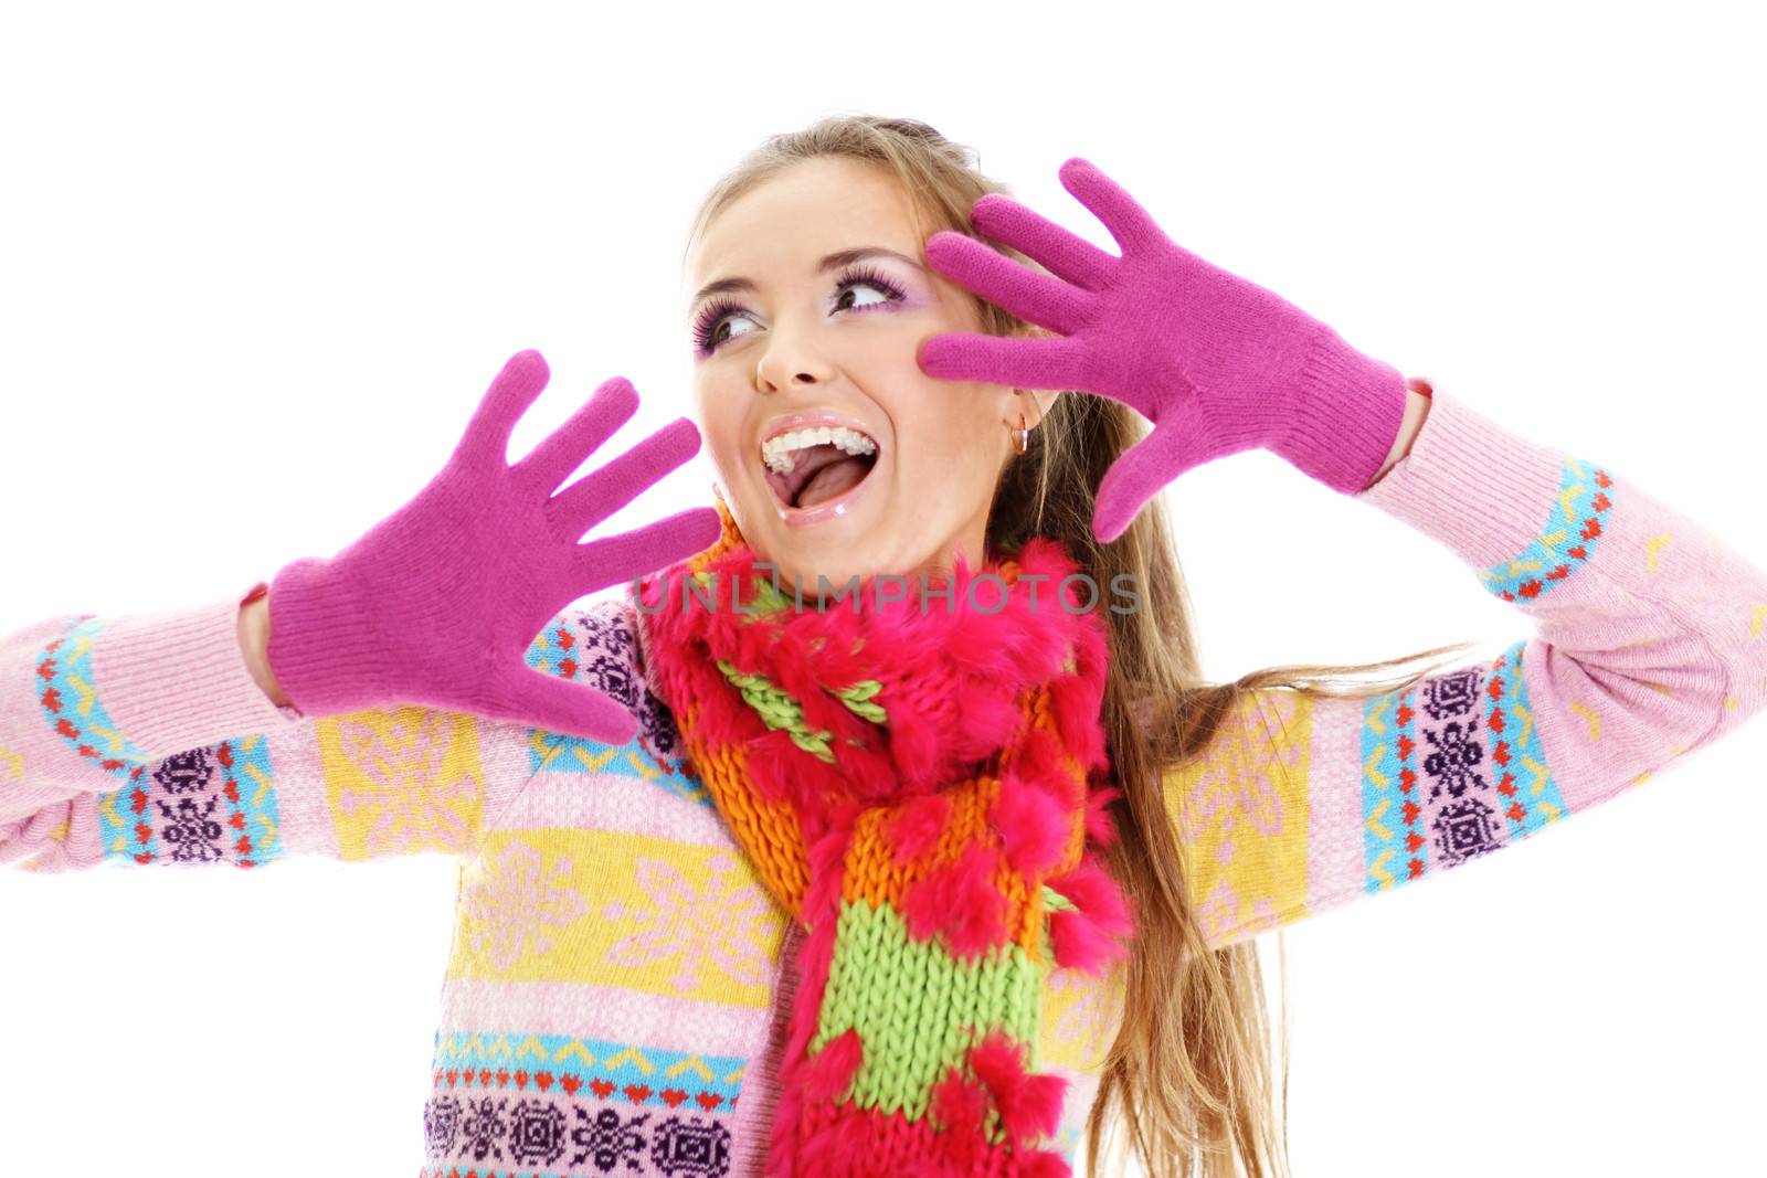
[[(689, 242), (698, 431), (558, 491), (634, 394), (511, 466), (521, 353), (339, 556), (14, 632), (0, 855), (463, 853), (426, 1173), (1101, 1173), (1111, 1109), (1279, 1173), (1253, 934), (1737, 728), (1767, 576), (1062, 180), (1120, 256), (924, 124), (769, 140)], [(576, 544), (696, 433), (716, 510)], [(1253, 447), (1536, 636), (1203, 683), (1152, 496)]]

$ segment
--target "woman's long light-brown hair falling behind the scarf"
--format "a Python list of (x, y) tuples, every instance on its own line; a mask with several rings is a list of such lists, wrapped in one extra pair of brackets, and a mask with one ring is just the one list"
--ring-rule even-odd
[[(816, 157), (869, 161), (892, 173), (912, 196), (917, 240), (935, 230), (977, 237), (997, 253), (1035, 270), (1035, 261), (981, 237), (970, 207), (984, 193), (1009, 193), (982, 175), (972, 148), (912, 118), (827, 115), (802, 131), (776, 134), (744, 155), (703, 198), (686, 256), (733, 200), (795, 162)], [(975, 298), (982, 330), (995, 336), (1048, 336), (1002, 307)], [(1140, 608), (1106, 611), (1110, 676), (1104, 733), (1110, 742), (1111, 804), (1119, 837), (1110, 869), (1136, 913), (1124, 970), (1124, 1016), (1104, 1060), (1087, 1121), (1087, 1166), (1099, 1155), (1117, 1113), (1119, 1125), (1152, 1178), (1276, 1178), (1288, 1173), (1288, 1037), (1281, 1054), (1281, 1106), (1270, 1083), (1270, 1021), (1263, 975), (1251, 940), (1210, 947), (1186, 888), (1186, 848), (1179, 842), (1164, 781), (1203, 751), (1242, 699), (1265, 689), (1315, 696), (1368, 698), (1408, 687), (1440, 662), (1375, 683), (1341, 676), (1394, 668), (1458, 652), (1438, 646), (1369, 664), (1286, 664), (1242, 675), (1232, 683), (1202, 680), (1191, 602), (1179, 567), (1168, 514), (1154, 498), (1110, 544), (1092, 535), (1099, 479), (1147, 434), (1140, 413), (1111, 397), (1064, 390), (1030, 434), (1025, 454), (1002, 472), (988, 517), (988, 546), (1044, 535), (1062, 540), (1096, 585), (1134, 578)], [(1283, 973), (1286, 991), (1286, 971)], [(1286, 993), (1283, 1008), (1286, 1014)]]

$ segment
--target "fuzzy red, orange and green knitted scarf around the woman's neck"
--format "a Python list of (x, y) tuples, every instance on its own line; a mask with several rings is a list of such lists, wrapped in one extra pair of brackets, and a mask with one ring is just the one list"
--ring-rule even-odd
[(1133, 933), (1097, 857), (1108, 646), (1078, 565), (1032, 537), (959, 558), (949, 597), (868, 579), (818, 609), (717, 510), (636, 593), (693, 768), (806, 933), (767, 1173), (1069, 1174), (1043, 985)]

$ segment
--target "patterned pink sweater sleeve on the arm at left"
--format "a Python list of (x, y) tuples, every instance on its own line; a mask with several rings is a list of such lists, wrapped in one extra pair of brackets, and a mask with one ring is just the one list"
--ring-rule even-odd
[[(0, 864), (67, 871), (368, 860), (477, 850), (569, 736), (428, 706), (306, 717), (239, 648), (240, 593), (152, 615), (62, 615), (0, 636)], [(562, 613), (528, 666), (629, 705), (585, 648), (617, 602)]]

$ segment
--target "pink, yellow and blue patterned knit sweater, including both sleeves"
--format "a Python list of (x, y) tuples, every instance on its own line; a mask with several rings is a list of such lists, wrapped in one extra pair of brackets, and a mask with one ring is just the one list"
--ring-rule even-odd
[[(1532, 634), (1375, 699), (1258, 692), (1173, 768), (1214, 945), (1502, 850), (1767, 705), (1767, 574), (1613, 468), (1437, 390), (1354, 498), (1445, 544)], [(0, 862), (454, 853), (422, 1173), (762, 1173), (797, 934), (682, 754), (629, 592), (528, 650), (636, 712), (610, 747), (421, 706), (276, 708), (239, 652), (251, 590), (0, 638)], [(1044, 994), (1069, 1155), (1120, 998), (1120, 975), (1062, 970)]]

